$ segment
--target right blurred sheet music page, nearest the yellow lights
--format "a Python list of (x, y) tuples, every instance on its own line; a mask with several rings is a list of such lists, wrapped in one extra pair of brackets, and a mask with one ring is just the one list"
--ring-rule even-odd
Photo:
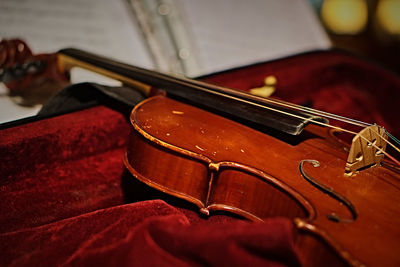
[(328, 49), (306, 0), (176, 0), (204, 75), (300, 52)]

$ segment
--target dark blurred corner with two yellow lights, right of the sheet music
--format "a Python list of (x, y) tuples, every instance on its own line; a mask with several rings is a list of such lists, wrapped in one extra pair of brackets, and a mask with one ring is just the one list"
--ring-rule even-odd
[(334, 47), (400, 73), (399, 0), (309, 0)]

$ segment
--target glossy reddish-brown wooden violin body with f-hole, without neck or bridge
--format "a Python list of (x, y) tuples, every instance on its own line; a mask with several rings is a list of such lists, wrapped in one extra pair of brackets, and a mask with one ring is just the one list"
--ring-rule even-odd
[(348, 147), (332, 130), (278, 138), (165, 96), (136, 106), (131, 123), (125, 165), (147, 185), (204, 214), (290, 218), (310, 257), (313, 236), (348, 265), (400, 264), (399, 173), (379, 166), (345, 177)]

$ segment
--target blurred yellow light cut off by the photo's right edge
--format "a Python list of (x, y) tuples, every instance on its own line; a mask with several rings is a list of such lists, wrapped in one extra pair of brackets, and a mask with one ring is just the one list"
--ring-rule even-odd
[(400, 35), (400, 1), (381, 0), (376, 10), (376, 18), (389, 34)]

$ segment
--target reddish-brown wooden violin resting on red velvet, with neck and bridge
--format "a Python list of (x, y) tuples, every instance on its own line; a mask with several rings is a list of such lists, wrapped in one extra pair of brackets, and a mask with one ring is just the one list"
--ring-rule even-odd
[(398, 148), (382, 127), (77, 49), (55, 60), (61, 77), (82, 67), (150, 96), (124, 157), (139, 181), (206, 216), (291, 219), (306, 265), (400, 265), (400, 164), (385, 151)]

